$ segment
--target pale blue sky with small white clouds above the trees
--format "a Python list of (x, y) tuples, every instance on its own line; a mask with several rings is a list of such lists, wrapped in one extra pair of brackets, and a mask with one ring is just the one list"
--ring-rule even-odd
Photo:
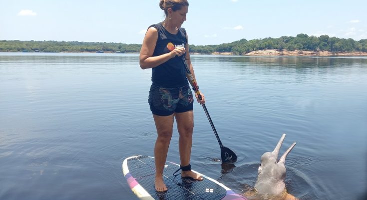
[[(367, 39), (367, 0), (189, 0), (189, 44), (296, 36)], [(159, 0), (0, 0), (0, 40), (141, 44)]]

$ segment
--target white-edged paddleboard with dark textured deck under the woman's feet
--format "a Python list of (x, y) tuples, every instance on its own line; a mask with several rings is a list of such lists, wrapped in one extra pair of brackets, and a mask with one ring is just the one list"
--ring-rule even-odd
[(157, 192), (154, 187), (155, 164), (154, 157), (137, 155), (127, 157), (122, 162), (122, 172), (134, 194), (143, 200), (247, 200), (244, 196), (208, 177), (194, 171), (204, 177), (203, 180), (182, 178), (181, 174), (173, 175), (180, 167), (179, 164), (167, 161), (164, 166), (163, 179), (168, 188), (165, 192)]

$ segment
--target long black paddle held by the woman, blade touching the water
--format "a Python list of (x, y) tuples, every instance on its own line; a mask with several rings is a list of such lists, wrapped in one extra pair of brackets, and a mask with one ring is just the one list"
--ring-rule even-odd
[[(191, 86), (194, 88), (194, 90), (195, 90), (196, 94), (198, 95), (199, 99), (201, 100), (202, 97), (200, 95), (199, 87), (198, 87), (198, 85), (197, 85), (194, 77), (191, 74), (190, 68), (187, 65), (187, 62), (186, 62), (186, 59), (185, 59), (184, 55), (182, 55), (182, 60), (184, 62), (185, 68), (186, 68), (186, 76), (189, 79), (189, 82), (190, 82)], [(202, 106), (204, 108), (204, 111), (205, 111), (206, 116), (209, 119), (210, 125), (213, 128), (214, 134), (217, 137), (217, 140), (219, 142), (219, 146), (221, 148), (222, 163), (232, 163), (232, 162), (235, 162), (237, 160), (237, 155), (231, 149), (223, 146), (222, 141), (219, 138), (218, 132), (217, 132), (217, 130), (214, 127), (212, 118), (210, 118), (208, 109), (206, 108), (206, 106), (205, 106), (204, 103), (202, 104)]]

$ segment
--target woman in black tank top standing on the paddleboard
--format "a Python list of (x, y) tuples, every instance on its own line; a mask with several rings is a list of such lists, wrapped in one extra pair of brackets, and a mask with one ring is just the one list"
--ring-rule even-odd
[[(162, 22), (149, 26), (140, 50), (139, 62), (142, 69), (152, 68), (152, 85), (148, 102), (157, 128), (154, 146), (155, 189), (166, 191), (163, 168), (172, 137), (173, 121), (176, 119), (179, 133), (181, 176), (202, 180), (191, 171), (190, 155), (194, 127), (193, 95), (186, 78), (181, 56), (184, 56), (195, 78), (190, 61), (187, 33), (181, 28), (186, 20), (189, 3), (187, 0), (160, 0), (159, 6), (166, 15)], [(201, 93), (200, 104), (205, 103)]]

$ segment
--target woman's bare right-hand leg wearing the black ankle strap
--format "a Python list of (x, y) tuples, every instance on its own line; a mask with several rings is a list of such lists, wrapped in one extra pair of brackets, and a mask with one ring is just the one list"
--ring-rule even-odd
[[(175, 112), (177, 129), (179, 133), (178, 147), (180, 151), (180, 161), (182, 166), (190, 164), (192, 132), (194, 129), (194, 112), (193, 110), (186, 112)], [(189, 176), (194, 179), (202, 180), (203, 177), (193, 171), (182, 171), (183, 177)]]

